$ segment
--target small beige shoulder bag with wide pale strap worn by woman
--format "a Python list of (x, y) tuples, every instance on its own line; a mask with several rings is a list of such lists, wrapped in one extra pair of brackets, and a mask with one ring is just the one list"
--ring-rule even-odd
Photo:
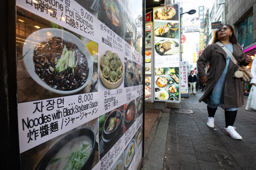
[(238, 65), (233, 54), (231, 54), (231, 52), (229, 52), (229, 50), (222, 43), (218, 41), (216, 44), (218, 44), (229, 55), (232, 62), (234, 62), (234, 64), (237, 66), (237, 71), (234, 72), (234, 76), (236, 78), (241, 78), (245, 82), (249, 81), (252, 78), (251, 72), (245, 66)]

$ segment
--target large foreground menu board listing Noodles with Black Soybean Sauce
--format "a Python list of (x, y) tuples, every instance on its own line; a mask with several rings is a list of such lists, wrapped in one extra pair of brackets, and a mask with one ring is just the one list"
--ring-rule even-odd
[(138, 169), (142, 0), (16, 0), (21, 169)]

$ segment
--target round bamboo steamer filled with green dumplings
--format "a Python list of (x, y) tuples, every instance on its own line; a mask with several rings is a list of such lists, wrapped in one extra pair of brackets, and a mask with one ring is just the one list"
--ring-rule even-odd
[(117, 53), (107, 50), (98, 62), (101, 82), (106, 88), (118, 88), (123, 82), (123, 62)]

